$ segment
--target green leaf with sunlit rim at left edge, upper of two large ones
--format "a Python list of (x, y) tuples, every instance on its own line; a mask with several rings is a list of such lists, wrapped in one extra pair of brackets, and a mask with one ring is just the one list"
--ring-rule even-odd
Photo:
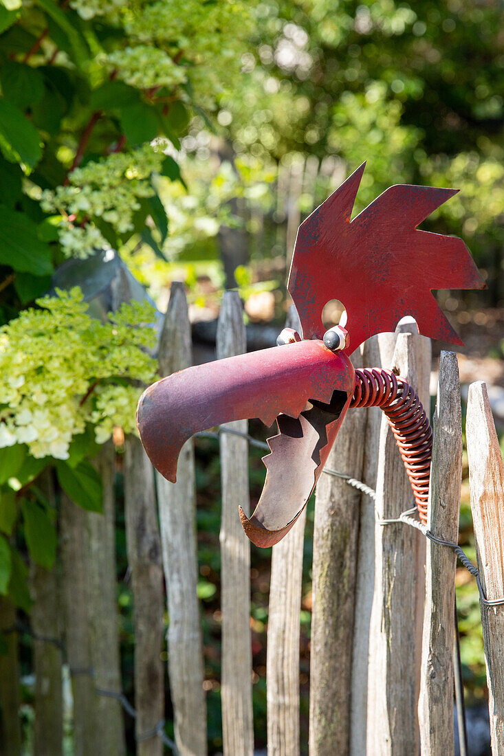
[(0, 149), (6, 160), (33, 168), (42, 156), (39, 132), (11, 102), (0, 99)]

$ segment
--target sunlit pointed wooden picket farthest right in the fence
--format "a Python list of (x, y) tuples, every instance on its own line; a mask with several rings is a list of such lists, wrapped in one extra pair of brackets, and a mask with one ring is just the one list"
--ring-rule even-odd
[(469, 488), (481, 587), (488, 606), (480, 600), (488, 708), (493, 756), (504, 754), (504, 463), (499, 448), (487, 386), (469, 386), (465, 426)]

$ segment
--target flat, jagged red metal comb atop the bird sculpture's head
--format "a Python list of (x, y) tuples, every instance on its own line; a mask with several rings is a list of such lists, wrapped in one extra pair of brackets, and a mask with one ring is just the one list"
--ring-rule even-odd
[(347, 310), (349, 351), (404, 315), (432, 339), (462, 343), (432, 290), (481, 289), (484, 281), (465, 243), (416, 228), (457, 189), (397, 184), (350, 221), (362, 163), (300, 225), (288, 290), (303, 338), (322, 338), (322, 308), (339, 299)]

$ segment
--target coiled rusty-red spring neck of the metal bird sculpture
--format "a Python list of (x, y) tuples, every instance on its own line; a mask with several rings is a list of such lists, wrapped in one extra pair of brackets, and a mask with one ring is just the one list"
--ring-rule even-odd
[(391, 370), (359, 368), (350, 407), (380, 407), (384, 411), (403, 457), (418, 514), (427, 522), (432, 429), (418, 394)]

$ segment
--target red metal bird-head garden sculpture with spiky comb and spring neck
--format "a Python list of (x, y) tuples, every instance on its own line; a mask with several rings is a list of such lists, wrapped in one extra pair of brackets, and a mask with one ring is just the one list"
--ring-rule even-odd
[[(300, 225), (288, 279), (302, 336), (157, 381), (138, 403), (142, 443), (175, 482), (182, 445), (194, 432), (259, 417), (278, 435), (264, 457), (266, 481), (248, 538), (278, 543), (319, 479), (349, 407), (381, 407), (394, 431), (418, 507), (427, 517), (432, 432), (415, 391), (390, 370), (354, 370), (348, 355), (410, 314), (433, 339), (462, 343), (438, 308), (437, 289), (484, 287), (465, 243), (417, 226), (458, 190), (398, 184), (350, 221), (365, 163)], [(322, 309), (343, 302), (347, 322), (325, 331)]]

